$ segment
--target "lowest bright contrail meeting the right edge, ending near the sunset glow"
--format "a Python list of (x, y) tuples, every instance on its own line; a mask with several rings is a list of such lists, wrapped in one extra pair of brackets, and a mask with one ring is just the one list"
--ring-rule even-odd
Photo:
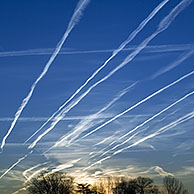
[(163, 132), (165, 132), (165, 131), (167, 131), (167, 130), (169, 130), (169, 129), (171, 129), (171, 128), (173, 128), (173, 127), (175, 127), (175, 126), (177, 126), (177, 125), (179, 125), (179, 124), (181, 124), (181, 123), (183, 123), (183, 122), (185, 122), (185, 121), (187, 121), (189, 119), (192, 119), (192, 118), (194, 118), (194, 111), (192, 111), (192, 112), (190, 112), (190, 113), (180, 117), (179, 119), (171, 122), (168, 125), (165, 125), (164, 127), (160, 128), (159, 130), (155, 131), (154, 133), (139, 139), (138, 141), (136, 141), (135, 143), (131, 144), (130, 146), (127, 146), (127, 147), (125, 147), (123, 149), (120, 149), (120, 150), (114, 152), (113, 154), (98, 160), (97, 162), (95, 162), (95, 163), (91, 164), (90, 166), (86, 167), (85, 169), (83, 169), (83, 171), (88, 170), (89, 168), (91, 168), (91, 167), (93, 167), (93, 166), (95, 166), (97, 164), (101, 164), (103, 161), (112, 158), (113, 156), (123, 152), (124, 150), (127, 150), (129, 148), (135, 147), (135, 146), (139, 145), (140, 143), (143, 143), (144, 141), (146, 141), (148, 139), (151, 139), (151, 138), (153, 138), (153, 137), (155, 137), (157, 135), (160, 135), (161, 133), (163, 133)]

